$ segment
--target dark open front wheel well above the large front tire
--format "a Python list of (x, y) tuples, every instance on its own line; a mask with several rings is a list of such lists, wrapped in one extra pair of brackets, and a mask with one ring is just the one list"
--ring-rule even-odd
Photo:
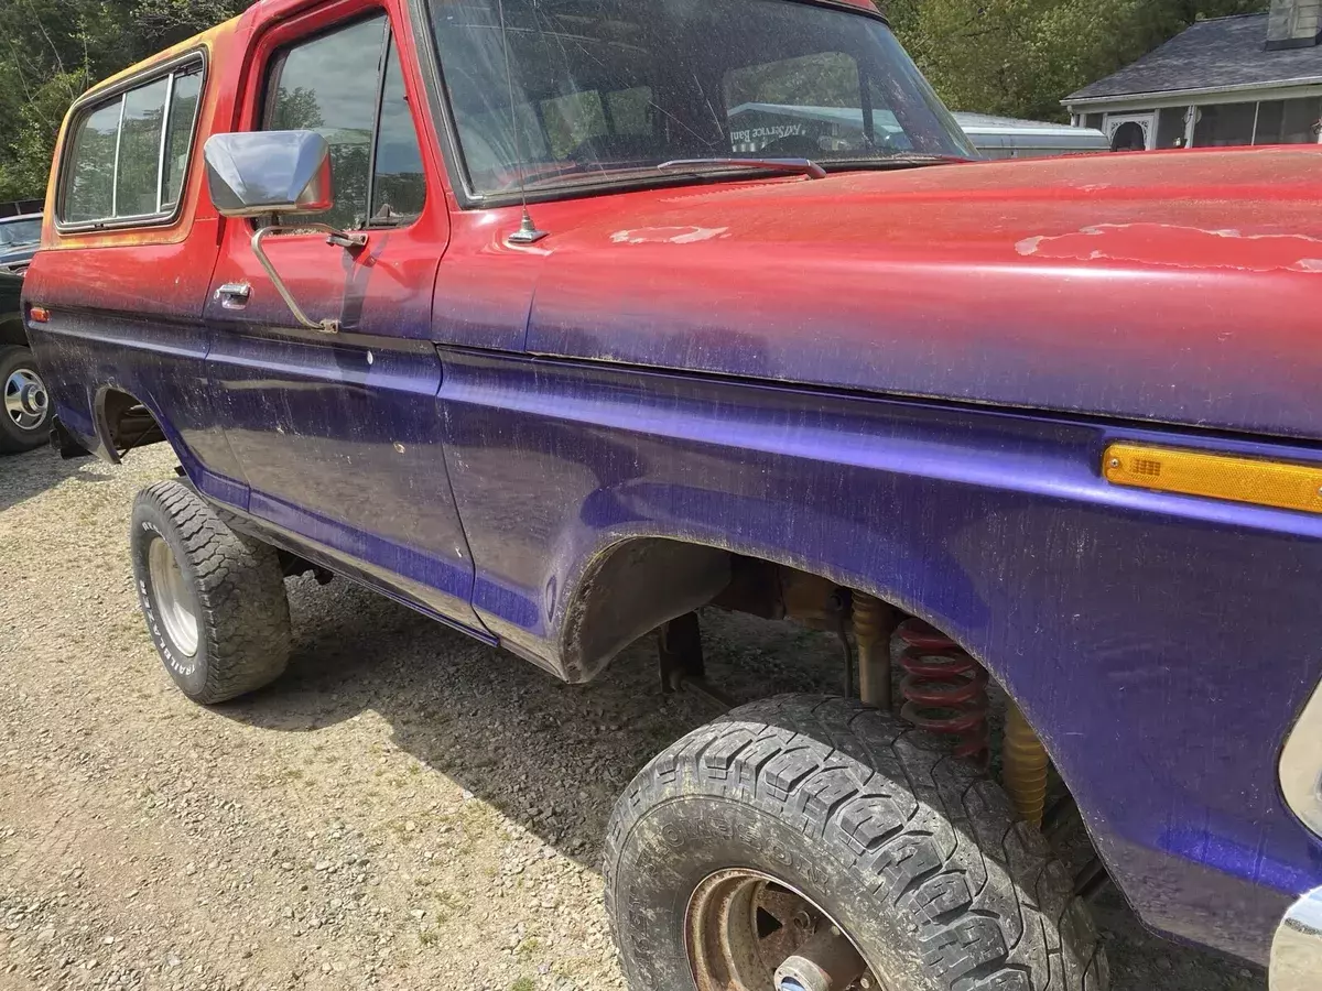
[[(662, 682), (678, 687), (687, 680), (719, 698), (720, 687), (702, 674), (698, 624), (693, 617), (670, 621), (702, 606), (791, 620), (839, 640), (843, 650), (837, 647), (834, 657), (841, 658), (839, 673), (855, 698), (947, 735), (956, 756), (986, 765), (992, 724), (1003, 723), (1003, 784), (1023, 818), (1040, 825), (1050, 753), (999, 678), (1005, 694), (995, 694), (999, 715), (993, 715), (988, 684), (993, 674), (1003, 673), (990, 671), (940, 629), (941, 617), (923, 614), (921, 604), (902, 604), (882, 588), (859, 587), (867, 584), (707, 544), (629, 539), (607, 548), (578, 583), (566, 616), (563, 670), (572, 682), (588, 680), (629, 643), (664, 628), (657, 645)], [(833, 651), (813, 653), (814, 666), (830, 663)]]

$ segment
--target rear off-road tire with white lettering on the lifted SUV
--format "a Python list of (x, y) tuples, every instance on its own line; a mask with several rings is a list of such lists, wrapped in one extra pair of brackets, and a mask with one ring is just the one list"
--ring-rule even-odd
[[(156, 616), (147, 563), (156, 539), (169, 544), (194, 597), (198, 645), (192, 657)], [(274, 547), (237, 534), (180, 482), (157, 482), (137, 493), (130, 547), (148, 633), (188, 698), (210, 706), (283, 674), (290, 659), (290, 603)]]

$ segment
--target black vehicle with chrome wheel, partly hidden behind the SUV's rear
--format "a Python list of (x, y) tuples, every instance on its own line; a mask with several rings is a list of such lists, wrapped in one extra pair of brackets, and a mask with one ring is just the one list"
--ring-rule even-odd
[(22, 326), (22, 274), (41, 240), (38, 201), (0, 203), (0, 453), (46, 443), (50, 412), (46, 386)]

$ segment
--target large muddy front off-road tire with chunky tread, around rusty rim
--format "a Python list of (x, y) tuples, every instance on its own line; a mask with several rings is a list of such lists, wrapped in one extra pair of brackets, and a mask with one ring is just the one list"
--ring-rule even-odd
[(744, 706), (633, 780), (607, 830), (604, 871), (631, 988), (693, 990), (689, 897), (730, 868), (810, 899), (888, 991), (1109, 987), (1069, 875), (1001, 788), (855, 702)]

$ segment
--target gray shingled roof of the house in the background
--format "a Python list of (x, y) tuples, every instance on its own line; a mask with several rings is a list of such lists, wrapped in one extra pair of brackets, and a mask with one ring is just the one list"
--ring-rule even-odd
[(1198, 21), (1161, 48), (1063, 100), (1322, 78), (1322, 46), (1266, 50), (1266, 15)]

